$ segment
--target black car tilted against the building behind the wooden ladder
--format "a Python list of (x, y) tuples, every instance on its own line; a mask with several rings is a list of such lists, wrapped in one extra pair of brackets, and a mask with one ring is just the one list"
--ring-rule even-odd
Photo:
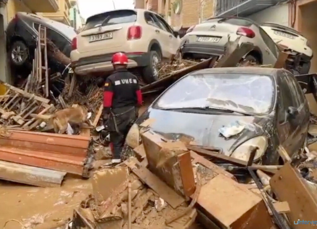
[(39, 24), (47, 28), (47, 38), (69, 57), (71, 41), (76, 36), (74, 28), (35, 14), (18, 12), (6, 29), (7, 51), (14, 66), (32, 62)]

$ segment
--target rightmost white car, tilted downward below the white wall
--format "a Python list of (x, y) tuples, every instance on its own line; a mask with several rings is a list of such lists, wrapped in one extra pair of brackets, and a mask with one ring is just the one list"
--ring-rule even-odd
[(307, 74), (309, 72), (313, 50), (305, 37), (293, 28), (272, 22), (263, 22), (261, 27), (276, 44), (300, 54), (300, 74)]

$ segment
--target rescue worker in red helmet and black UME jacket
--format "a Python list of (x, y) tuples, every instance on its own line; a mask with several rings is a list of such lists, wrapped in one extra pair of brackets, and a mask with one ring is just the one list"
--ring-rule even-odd
[(128, 58), (122, 53), (112, 57), (114, 72), (108, 76), (103, 93), (103, 117), (108, 119), (111, 164), (121, 162), (121, 150), (126, 135), (138, 117), (142, 105), (142, 95), (138, 79), (127, 70)]

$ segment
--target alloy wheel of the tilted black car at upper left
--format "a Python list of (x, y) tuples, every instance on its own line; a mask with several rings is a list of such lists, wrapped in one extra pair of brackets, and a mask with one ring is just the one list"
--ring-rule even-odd
[(22, 41), (16, 41), (11, 45), (10, 59), (16, 66), (22, 66), (28, 57), (28, 47)]

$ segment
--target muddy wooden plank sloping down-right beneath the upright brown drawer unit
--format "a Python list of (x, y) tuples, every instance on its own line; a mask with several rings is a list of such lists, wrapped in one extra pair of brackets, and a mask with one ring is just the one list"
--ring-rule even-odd
[(172, 208), (177, 208), (185, 200), (182, 196), (179, 196), (174, 190), (172, 190), (165, 182), (161, 181), (150, 170), (141, 166), (135, 159), (133, 163), (126, 163), (131, 171), (137, 175), (145, 184), (153, 189), (159, 196), (168, 202)]

